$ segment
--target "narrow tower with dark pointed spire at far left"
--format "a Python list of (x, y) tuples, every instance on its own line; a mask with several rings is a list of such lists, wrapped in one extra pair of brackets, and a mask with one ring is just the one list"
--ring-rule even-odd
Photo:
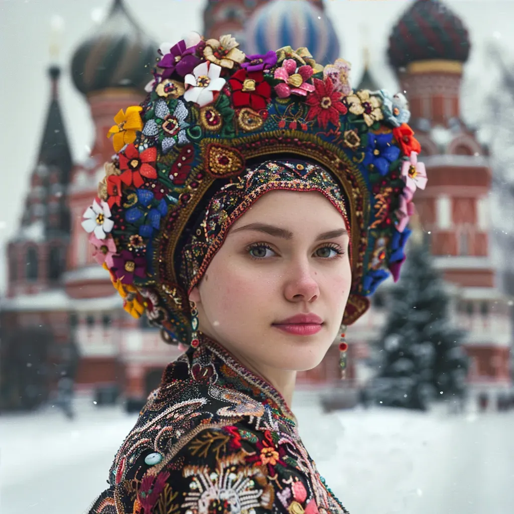
[(48, 68), (50, 102), (20, 229), (8, 245), (8, 297), (31, 295), (59, 284), (70, 237), (66, 191), (71, 152), (59, 104), (61, 68)]

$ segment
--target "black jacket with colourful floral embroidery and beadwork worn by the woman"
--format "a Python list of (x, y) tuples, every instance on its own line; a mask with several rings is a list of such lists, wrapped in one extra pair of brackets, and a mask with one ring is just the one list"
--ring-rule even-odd
[(348, 514), (283, 397), (201, 337), (164, 370), (89, 514)]

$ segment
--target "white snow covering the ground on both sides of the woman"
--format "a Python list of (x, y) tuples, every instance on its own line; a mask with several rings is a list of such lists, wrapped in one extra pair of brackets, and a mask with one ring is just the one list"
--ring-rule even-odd
[[(76, 402), (0, 418), (2, 514), (85, 512), (107, 486), (136, 416)], [(512, 514), (514, 412), (452, 415), (396, 409), (323, 414), (293, 406), (309, 453), (352, 514)]]

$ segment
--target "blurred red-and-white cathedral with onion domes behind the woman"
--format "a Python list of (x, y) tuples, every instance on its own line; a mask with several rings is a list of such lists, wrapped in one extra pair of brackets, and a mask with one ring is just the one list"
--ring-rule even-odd
[[(323, 2), (294, 3), (292, 9), (291, 0), (210, 0), (204, 35), (231, 33), (248, 54), (291, 45), (308, 47), (323, 64), (344, 56)], [(105, 21), (77, 48), (70, 72), (95, 125), (90, 156), (81, 163), (72, 162), (61, 115), (61, 70), (57, 65), (49, 68), (48, 114), (20, 230), (7, 249), (8, 291), (1, 313), (4, 333), (14, 341), (28, 327), (49, 329), (49, 366), (57, 366), (75, 345), (80, 354), (74, 373), (78, 390), (115, 386), (135, 405), (157, 386), (164, 365), (179, 352), (164, 344), (144, 319), (125, 313), (108, 273), (94, 261), (80, 223), (104, 174), (103, 163), (111, 158), (112, 143), (105, 134), (112, 118), (120, 108), (143, 100), (157, 47), (122, 0), (114, 0)], [(427, 189), (417, 192), (418, 215), (430, 235), (435, 265), (450, 284), (452, 320), (468, 331), (468, 381), (478, 393), (511, 387), (511, 325), (489, 256), (488, 155), (460, 112), (469, 50), (467, 30), (444, 3), (416, 0), (393, 27), (388, 56), (409, 99), (410, 124), (423, 146), (429, 175)], [(379, 83), (365, 56), (357, 87), (375, 90)], [(383, 295), (377, 293), (370, 311), (348, 331), (349, 384), (358, 386), (365, 378), (360, 363), (383, 326)], [(2, 365), (10, 365), (9, 352), (14, 350), (3, 345), (2, 352)], [(56, 375), (47, 375), (51, 388)], [(338, 377), (335, 344), (316, 369), (299, 373), (298, 379), (300, 386), (312, 387), (333, 384)], [(10, 394), (15, 396), (16, 390)]]

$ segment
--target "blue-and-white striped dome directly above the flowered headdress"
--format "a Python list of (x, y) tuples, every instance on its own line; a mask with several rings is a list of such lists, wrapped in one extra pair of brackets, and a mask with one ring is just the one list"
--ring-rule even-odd
[(252, 14), (245, 29), (241, 46), (247, 54), (305, 46), (320, 64), (340, 57), (332, 22), (308, 0), (272, 0)]

